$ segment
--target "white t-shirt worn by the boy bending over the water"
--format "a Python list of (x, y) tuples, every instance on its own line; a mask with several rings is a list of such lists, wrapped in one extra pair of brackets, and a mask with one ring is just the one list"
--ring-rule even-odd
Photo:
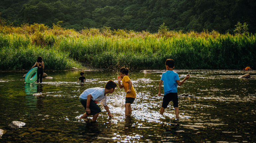
[(107, 94), (104, 95), (104, 88), (90, 88), (83, 91), (79, 98), (87, 99), (87, 95), (91, 94), (93, 101), (99, 102), (102, 106), (107, 106)]

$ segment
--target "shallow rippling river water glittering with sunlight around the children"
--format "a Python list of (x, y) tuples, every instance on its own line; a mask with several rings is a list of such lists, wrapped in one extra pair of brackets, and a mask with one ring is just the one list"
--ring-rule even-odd
[[(46, 71), (53, 79), (42, 84), (25, 84), (26, 72), (0, 73), (0, 129), (7, 131), (0, 142), (148, 142), (227, 143), (255, 142), (256, 71), (174, 70), (184, 79), (178, 86), (180, 120), (175, 120), (172, 102), (159, 114), (162, 97), (158, 85), (164, 70), (153, 73), (131, 71), (129, 77), (137, 93), (132, 116), (125, 117), (124, 89), (108, 94), (113, 118), (102, 109), (96, 123), (77, 119), (85, 109), (79, 95), (87, 88), (117, 83), (118, 71), (85, 71), (92, 81), (76, 82), (80, 71)], [(238, 79), (250, 73), (253, 79)], [(162, 89), (163, 93), (163, 89)], [(120, 106), (118, 106), (119, 102)], [(26, 125), (11, 129), (12, 121)]]

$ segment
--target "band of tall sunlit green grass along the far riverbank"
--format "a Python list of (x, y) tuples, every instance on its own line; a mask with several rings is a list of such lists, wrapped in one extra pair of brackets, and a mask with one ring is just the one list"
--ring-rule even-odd
[(170, 31), (158, 33), (86, 28), (80, 32), (60, 25), (0, 26), (0, 70), (29, 69), (42, 56), (47, 69), (164, 69), (167, 58), (176, 69), (243, 69), (255, 67), (255, 34)]

